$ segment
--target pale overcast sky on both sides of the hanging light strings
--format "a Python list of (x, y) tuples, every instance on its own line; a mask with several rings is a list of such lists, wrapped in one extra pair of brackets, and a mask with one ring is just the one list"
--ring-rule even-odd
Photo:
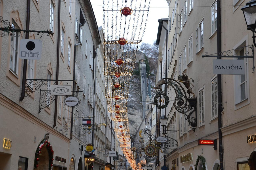
[[(91, 0), (94, 15), (98, 27), (103, 25), (103, 0)], [(153, 44), (156, 41), (158, 30), (158, 19), (168, 18), (168, 4), (166, 0), (151, 0), (149, 8), (149, 17), (146, 31), (142, 42)]]

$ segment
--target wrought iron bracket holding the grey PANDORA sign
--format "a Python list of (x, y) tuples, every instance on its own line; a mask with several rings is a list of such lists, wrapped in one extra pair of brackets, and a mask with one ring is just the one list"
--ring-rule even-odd
[[(239, 49), (242, 49), (244, 47), (247, 47), (249, 48), (248, 51), (245, 52), (245, 56), (238, 56), (236, 55), (240, 50)], [(235, 52), (235, 54), (232, 55), (232, 51), (235, 51), (237, 50), (237, 52)], [(225, 58), (252, 58), (252, 73), (254, 73), (254, 69), (255, 69), (255, 66), (254, 66), (254, 46), (253, 45), (247, 45), (247, 46), (242, 46), (242, 47), (239, 47), (239, 48), (236, 48), (236, 49), (230, 49), (230, 50), (227, 50), (227, 51), (222, 51), (222, 52), (219, 52), (219, 53), (214, 53), (214, 54), (209, 54), (208, 55), (208, 52), (205, 52), (204, 55), (202, 55), (202, 57), (218, 57), (218, 58), (222, 58), (222, 57), (225, 57)]]

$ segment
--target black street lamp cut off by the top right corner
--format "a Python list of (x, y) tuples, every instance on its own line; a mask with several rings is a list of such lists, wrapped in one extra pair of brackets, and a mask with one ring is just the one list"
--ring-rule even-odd
[(247, 30), (252, 31), (252, 38), (253, 38), (253, 44), (256, 46), (255, 43), (255, 36), (254, 33), (256, 33), (256, 0), (251, 0), (245, 4), (241, 10), (244, 13), (244, 18), (247, 25)]

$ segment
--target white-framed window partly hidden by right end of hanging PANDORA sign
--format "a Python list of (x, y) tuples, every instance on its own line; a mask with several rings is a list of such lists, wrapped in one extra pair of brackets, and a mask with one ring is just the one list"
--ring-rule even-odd
[[(236, 50), (239, 56), (246, 56), (246, 47), (239, 48)], [(248, 84), (248, 58), (240, 58), (244, 60), (245, 74), (234, 75), (234, 90), (235, 90), (235, 104), (238, 104), (246, 99), (249, 95), (249, 84)]]

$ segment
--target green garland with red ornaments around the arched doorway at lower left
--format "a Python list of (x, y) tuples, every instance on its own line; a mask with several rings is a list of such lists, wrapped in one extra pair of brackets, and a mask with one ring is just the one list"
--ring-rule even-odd
[(49, 141), (43, 139), (40, 144), (38, 145), (38, 148), (36, 149), (36, 154), (35, 154), (35, 161), (34, 161), (34, 169), (36, 169), (37, 167), (39, 167), (39, 157), (41, 154), (41, 150), (42, 148), (46, 146), (47, 150), (48, 150), (48, 154), (49, 154), (49, 170), (52, 169), (53, 166), (53, 149), (52, 149), (52, 145), (50, 144)]

